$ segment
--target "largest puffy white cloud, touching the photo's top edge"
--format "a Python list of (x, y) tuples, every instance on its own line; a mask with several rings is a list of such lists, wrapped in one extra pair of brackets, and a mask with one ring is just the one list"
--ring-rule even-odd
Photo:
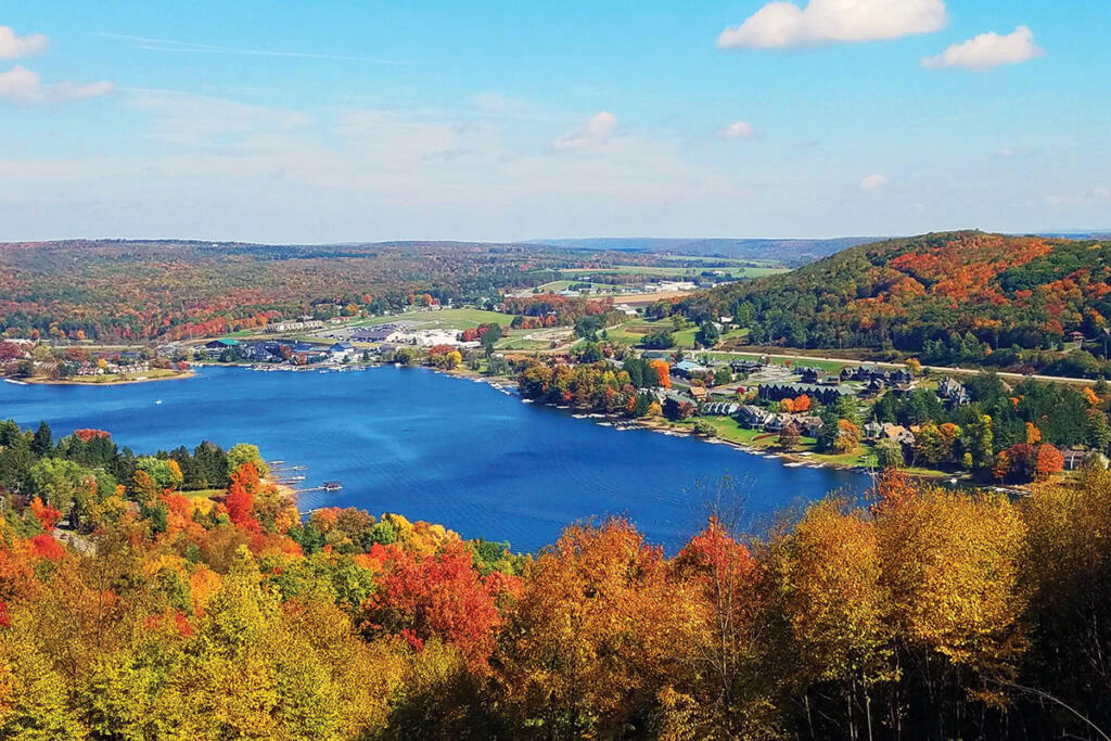
[(944, 28), (944, 0), (810, 0), (769, 2), (718, 38), (722, 49), (788, 49), (880, 41)]

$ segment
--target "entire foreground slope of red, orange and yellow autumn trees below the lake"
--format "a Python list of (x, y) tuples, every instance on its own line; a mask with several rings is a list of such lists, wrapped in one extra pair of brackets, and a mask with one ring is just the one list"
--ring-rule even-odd
[[(888, 472), (673, 557), (302, 521), (257, 448), (0, 423), (0, 738), (1105, 738), (1111, 473), (1019, 501)], [(202, 489), (203, 487), (203, 489)], [(784, 492), (789, 494), (790, 492)]]

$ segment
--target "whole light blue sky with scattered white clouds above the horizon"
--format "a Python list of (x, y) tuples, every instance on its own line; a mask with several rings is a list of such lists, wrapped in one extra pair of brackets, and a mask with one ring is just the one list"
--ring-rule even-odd
[(1111, 228), (1108, 0), (0, 0), (0, 240)]

